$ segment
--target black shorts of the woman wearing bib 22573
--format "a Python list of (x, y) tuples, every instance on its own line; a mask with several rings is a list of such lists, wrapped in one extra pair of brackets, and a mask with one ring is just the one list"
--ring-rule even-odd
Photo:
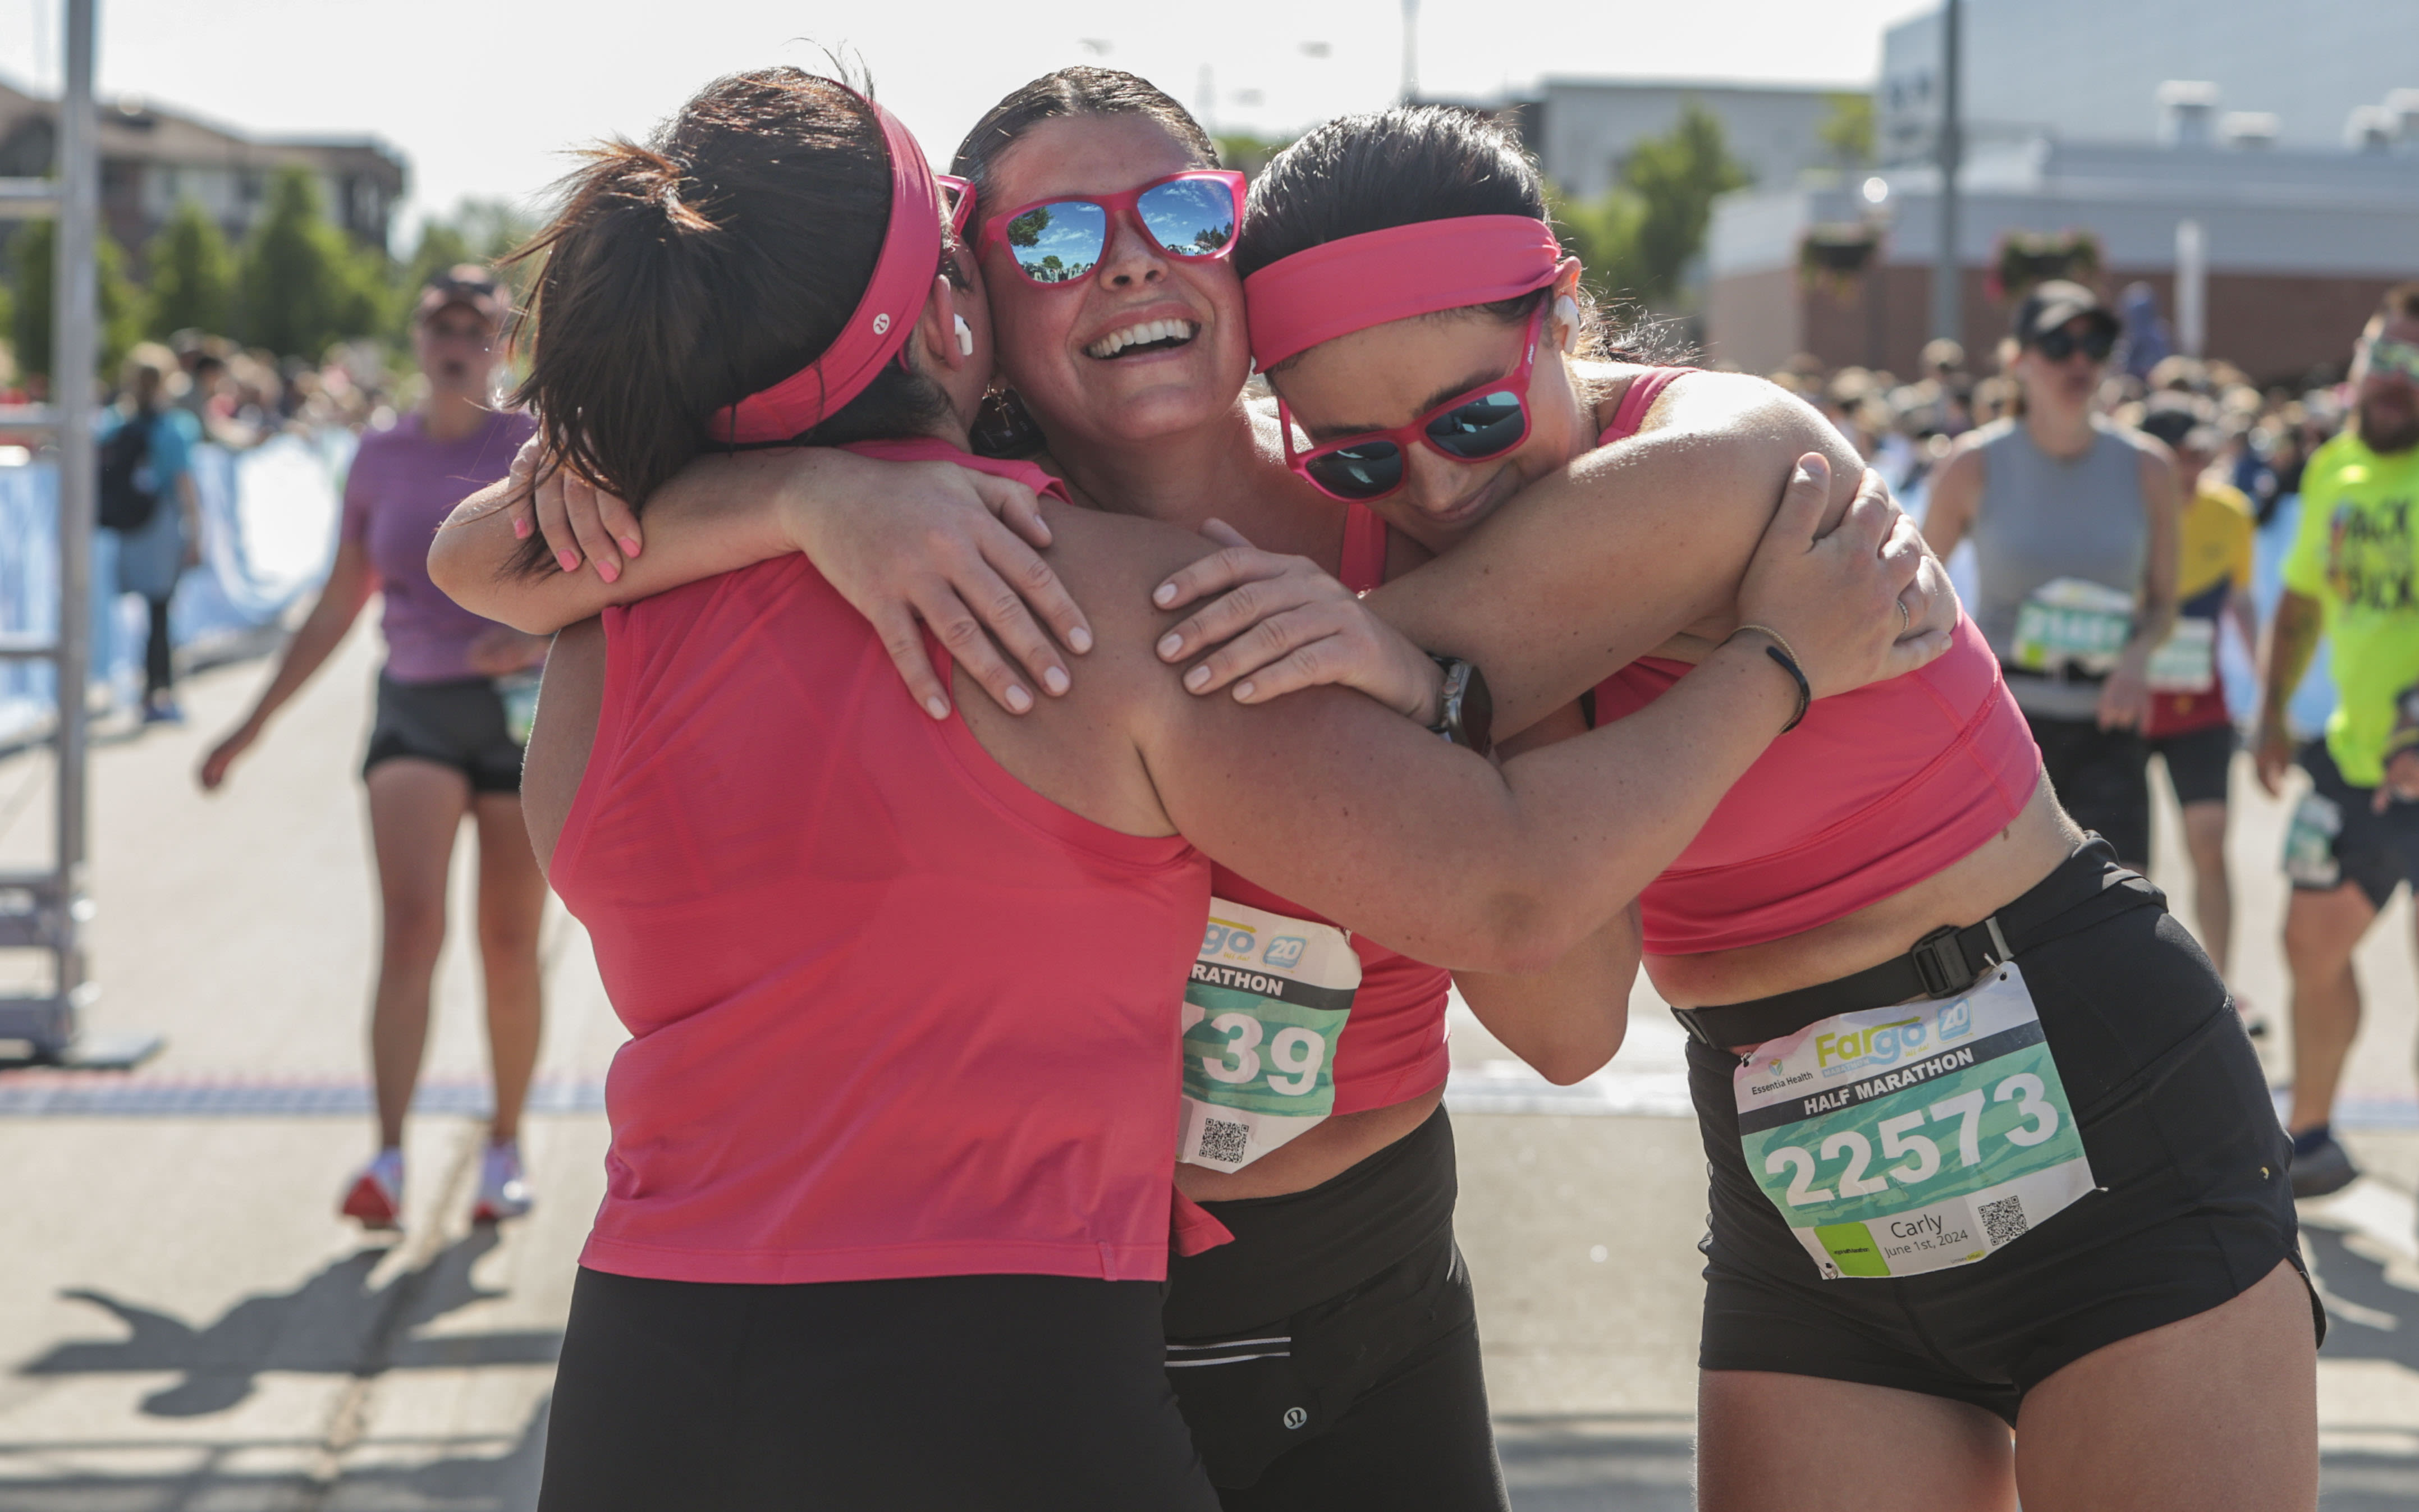
[[(2105, 856), (2085, 847), (2042, 888), (2129, 876)], [(1974, 1265), (1822, 1280), (1747, 1171), (1737, 1057), (1688, 1043), (1713, 1181), (1703, 1369), (1923, 1391), (2015, 1422), (2027, 1391), (2092, 1350), (2221, 1306), (2279, 1263), (2300, 1270), (2291, 1144), (2184, 927), (2134, 907), (2015, 960), (2102, 1190)]]

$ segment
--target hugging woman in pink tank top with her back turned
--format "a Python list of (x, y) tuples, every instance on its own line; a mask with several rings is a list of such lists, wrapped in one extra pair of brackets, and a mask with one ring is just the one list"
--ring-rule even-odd
[[(595, 150), (539, 240), (523, 399), (568, 464), (639, 506), (702, 445), (1021, 477), (1101, 602), (1084, 687), (1033, 719), (929, 719), (798, 556), (556, 641), (530, 827), (631, 1040), (549, 1512), (1214, 1505), (1159, 1335), (1193, 842), (1522, 970), (1626, 907), (1807, 680), (1926, 660), (1892, 646), (1918, 539), (1860, 506), (1814, 542), (1797, 486), (1768, 627), (1626, 728), (1495, 769), (1350, 692), (1195, 699), (1147, 595), (1205, 542), (963, 450), (989, 317), (943, 206), (897, 121), (764, 70)], [(1289, 1043), (1265, 1060), (1306, 1079)]]

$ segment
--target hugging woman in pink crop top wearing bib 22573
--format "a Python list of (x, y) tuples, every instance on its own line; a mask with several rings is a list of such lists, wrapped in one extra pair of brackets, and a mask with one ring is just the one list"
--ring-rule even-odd
[[(1558, 542), (1691, 416), (1771, 402), (1570, 360), (1577, 266), (1512, 143), (1434, 109), (1323, 126), (1255, 184), (1236, 261), (1289, 464), (1367, 510), (1345, 588), (1488, 665), (1560, 660), (1577, 605), (1652, 605), (1592, 719), (1686, 687), (1737, 624), (1744, 523), (1611, 573)], [(1379, 588), (1389, 532), (1444, 559)], [(1473, 627), (1459, 595), (1514, 564)], [(1253, 593), (1178, 634), (1326, 590), (1289, 578), (1197, 564), (1178, 600)], [(1284, 636), (1236, 646), (1265, 680)], [(1640, 902), (1713, 1183), (1701, 1507), (2313, 1505), (2325, 1318), (2257, 1057), (2158, 890), (2059, 810), (1971, 622), (1817, 704)], [(1875, 1442), (1887, 1473), (1841, 1449)]]

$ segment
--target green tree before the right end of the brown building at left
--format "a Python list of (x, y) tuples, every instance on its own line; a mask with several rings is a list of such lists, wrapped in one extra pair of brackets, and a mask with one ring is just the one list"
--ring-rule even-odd
[(319, 358), (334, 341), (387, 327), (385, 249), (356, 247), (319, 210), (310, 169), (283, 167), (244, 247), (242, 336), (278, 356)]

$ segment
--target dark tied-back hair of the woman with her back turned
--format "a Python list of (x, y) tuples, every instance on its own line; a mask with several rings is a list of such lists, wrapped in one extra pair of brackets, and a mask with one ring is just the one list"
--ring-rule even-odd
[[(844, 85), (798, 68), (706, 85), (646, 145), (593, 148), (561, 210), (515, 254), (542, 254), (544, 269), (530, 377), (513, 399), (537, 411), (559, 464), (643, 508), (718, 448), (714, 411), (839, 336), (873, 278), (888, 206), (881, 121)], [(946, 414), (929, 377), (885, 363), (793, 443), (917, 435)], [(542, 549), (523, 556), (544, 561)]]

